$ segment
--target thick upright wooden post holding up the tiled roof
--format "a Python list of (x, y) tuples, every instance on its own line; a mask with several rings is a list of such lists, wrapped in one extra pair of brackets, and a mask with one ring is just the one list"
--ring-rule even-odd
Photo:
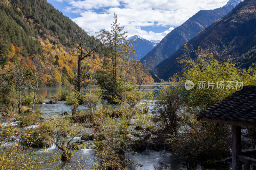
[(232, 134), (232, 170), (242, 170), (242, 164), (238, 160), (241, 155), (241, 126), (231, 126)]

